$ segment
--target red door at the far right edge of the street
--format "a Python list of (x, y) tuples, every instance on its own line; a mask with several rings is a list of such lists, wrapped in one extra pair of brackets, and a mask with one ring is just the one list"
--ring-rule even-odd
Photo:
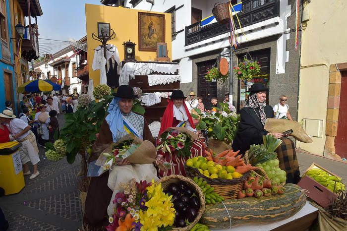
[(336, 154), (347, 158), (347, 71), (342, 72), (338, 133), (335, 137)]

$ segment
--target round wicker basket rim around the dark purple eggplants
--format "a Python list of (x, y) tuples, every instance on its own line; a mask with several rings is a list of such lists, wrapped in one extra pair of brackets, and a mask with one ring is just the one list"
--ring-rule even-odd
[(194, 190), (195, 194), (197, 194), (200, 199), (200, 208), (195, 220), (186, 227), (173, 228), (173, 230), (189, 231), (199, 222), (202, 214), (205, 212), (205, 195), (202, 192), (201, 188), (193, 180), (182, 175), (164, 176), (158, 181), (158, 183), (162, 183), (162, 187), (163, 189), (165, 189), (167, 186), (169, 186), (169, 184), (176, 183), (179, 181), (184, 181), (185, 183), (187, 183)]

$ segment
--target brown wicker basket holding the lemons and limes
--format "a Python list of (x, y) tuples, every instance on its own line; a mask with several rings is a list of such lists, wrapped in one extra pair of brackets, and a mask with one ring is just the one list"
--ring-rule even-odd
[(203, 178), (207, 181), (211, 187), (215, 188), (215, 192), (223, 196), (224, 199), (236, 199), (237, 194), (239, 191), (242, 190), (243, 183), (248, 178), (250, 171), (247, 173), (244, 173), (240, 178), (235, 179), (221, 179), (221, 178), (214, 178), (211, 179), (210, 177), (207, 177), (203, 174), (201, 174), (197, 169), (188, 167), (184, 165), (185, 172), (187, 173), (187, 176), (190, 178), (194, 178), (195, 176), (199, 178)]

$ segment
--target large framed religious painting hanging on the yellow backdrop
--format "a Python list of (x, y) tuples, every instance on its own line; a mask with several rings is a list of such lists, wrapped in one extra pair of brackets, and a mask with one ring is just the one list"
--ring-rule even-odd
[(165, 15), (138, 12), (139, 51), (157, 50), (165, 42)]

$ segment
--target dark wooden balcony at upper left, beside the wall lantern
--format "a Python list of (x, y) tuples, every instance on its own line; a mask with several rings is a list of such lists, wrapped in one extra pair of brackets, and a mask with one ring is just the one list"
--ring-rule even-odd
[(39, 36), (37, 27), (31, 24), (29, 29), (30, 39), (22, 40), (22, 57), (30, 62), (37, 59), (39, 55)]

